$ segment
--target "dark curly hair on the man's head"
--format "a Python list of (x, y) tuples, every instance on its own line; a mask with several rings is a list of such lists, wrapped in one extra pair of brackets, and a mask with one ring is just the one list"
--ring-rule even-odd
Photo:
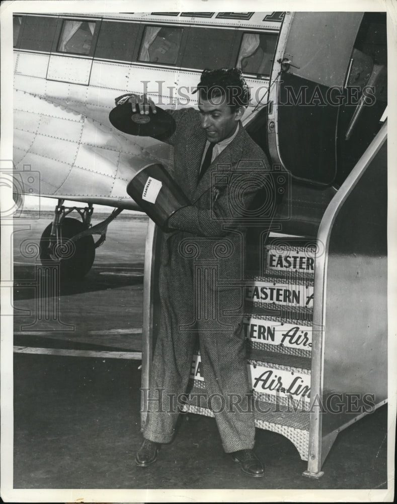
[(215, 96), (224, 96), (232, 111), (247, 107), (250, 101), (250, 89), (239, 68), (205, 69), (197, 91), (200, 98), (209, 101)]

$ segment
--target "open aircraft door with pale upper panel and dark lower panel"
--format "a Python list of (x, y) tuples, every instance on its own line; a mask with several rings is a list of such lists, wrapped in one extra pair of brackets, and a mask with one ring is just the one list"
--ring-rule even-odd
[(269, 90), (268, 147), (272, 162), (295, 180), (330, 185), (336, 177), (341, 96), (362, 18), (359, 12), (285, 14)]

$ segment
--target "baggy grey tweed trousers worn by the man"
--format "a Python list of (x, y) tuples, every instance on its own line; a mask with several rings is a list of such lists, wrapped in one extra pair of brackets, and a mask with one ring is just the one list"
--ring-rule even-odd
[[(254, 447), (255, 422), (247, 373), (240, 287), (218, 289), (216, 267), (182, 257), (161, 265), (160, 323), (154, 349), (143, 436), (169, 443), (185, 394), (197, 338), (201, 374), (226, 453)], [(231, 309), (233, 314), (225, 314)], [(160, 394), (160, 396), (159, 396)]]

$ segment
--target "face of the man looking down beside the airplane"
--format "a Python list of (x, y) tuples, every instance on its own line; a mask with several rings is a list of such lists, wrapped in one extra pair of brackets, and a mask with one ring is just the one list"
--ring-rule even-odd
[(241, 119), (245, 110), (244, 107), (240, 107), (232, 111), (224, 96), (211, 97), (210, 100), (200, 97), (198, 107), (201, 114), (201, 126), (205, 130), (207, 140), (211, 143), (231, 137), (237, 127), (237, 121)]

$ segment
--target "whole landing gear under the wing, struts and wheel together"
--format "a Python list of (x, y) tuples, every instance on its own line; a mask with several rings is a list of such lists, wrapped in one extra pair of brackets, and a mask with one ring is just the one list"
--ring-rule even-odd
[[(100, 224), (91, 225), (92, 203), (88, 207), (64, 207), (64, 200), (58, 200), (54, 220), (45, 229), (40, 239), (40, 260), (44, 264), (59, 263), (63, 278), (83, 278), (90, 271), (95, 249), (106, 239), (108, 224), (122, 212), (117, 208)], [(73, 210), (82, 217), (82, 221), (66, 217)], [(97, 242), (93, 234), (100, 234)]]

